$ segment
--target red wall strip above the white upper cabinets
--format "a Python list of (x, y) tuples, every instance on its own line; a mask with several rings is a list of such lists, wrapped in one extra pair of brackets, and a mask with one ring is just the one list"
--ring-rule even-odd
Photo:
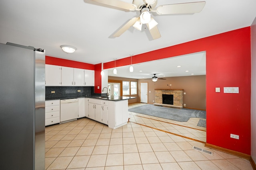
[(78, 61), (60, 59), (50, 56), (45, 56), (45, 64), (94, 70), (94, 64), (82, 63)]

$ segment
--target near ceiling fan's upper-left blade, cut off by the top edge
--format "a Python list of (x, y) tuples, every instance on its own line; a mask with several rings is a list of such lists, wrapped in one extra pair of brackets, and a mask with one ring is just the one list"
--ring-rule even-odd
[(121, 0), (92, 0), (94, 2), (98, 2), (101, 4), (106, 4), (109, 6), (114, 6), (114, 7), (118, 7), (118, 8), (122, 8), (125, 10), (130, 10), (133, 11), (135, 10), (137, 7), (134, 4), (130, 4)]

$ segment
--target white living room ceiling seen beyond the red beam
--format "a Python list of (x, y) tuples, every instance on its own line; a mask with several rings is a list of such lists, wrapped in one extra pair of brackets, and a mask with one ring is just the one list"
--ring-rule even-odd
[[(206, 53), (199, 52), (189, 55), (171, 57), (140, 64), (133, 64), (133, 72), (129, 71), (130, 65), (116, 67), (117, 74), (113, 74), (114, 68), (108, 69), (108, 76), (125, 78), (152, 78), (156, 74), (158, 78), (192, 76), (206, 74)], [(180, 67), (177, 67), (180, 66)], [(140, 72), (141, 71), (141, 72)], [(188, 71), (188, 72), (186, 72)], [(192, 75), (191, 75), (192, 74)]]

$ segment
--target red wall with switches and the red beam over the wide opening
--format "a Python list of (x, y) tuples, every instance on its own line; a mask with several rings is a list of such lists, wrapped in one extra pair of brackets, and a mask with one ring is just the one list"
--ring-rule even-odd
[[(250, 27), (135, 55), (132, 63), (199, 51), (206, 51), (206, 142), (250, 155)], [(116, 66), (130, 65), (130, 61), (130, 57), (116, 60)], [(114, 61), (104, 63), (104, 69), (113, 67)], [(224, 94), (224, 87), (239, 87), (239, 94)], [(240, 139), (230, 138), (230, 133)]]

